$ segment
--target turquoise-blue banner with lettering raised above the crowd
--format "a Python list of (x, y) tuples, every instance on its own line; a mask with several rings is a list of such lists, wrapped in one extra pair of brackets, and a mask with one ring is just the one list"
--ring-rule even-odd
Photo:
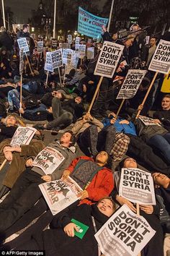
[(91, 38), (100, 38), (102, 34), (102, 25), (107, 26), (109, 19), (102, 18), (86, 12), (79, 7), (78, 29), (77, 31)]

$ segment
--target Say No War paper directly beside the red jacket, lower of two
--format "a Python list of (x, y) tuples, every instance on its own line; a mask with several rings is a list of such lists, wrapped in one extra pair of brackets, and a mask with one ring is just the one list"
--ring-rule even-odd
[(78, 194), (82, 191), (81, 187), (69, 176), (64, 180), (42, 183), (39, 187), (53, 215), (76, 202), (79, 199)]

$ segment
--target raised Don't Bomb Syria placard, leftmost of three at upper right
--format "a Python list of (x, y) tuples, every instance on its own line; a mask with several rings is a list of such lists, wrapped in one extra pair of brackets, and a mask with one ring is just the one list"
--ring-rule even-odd
[(104, 41), (94, 74), (112, 78), (120, 60), (120, 56), (122, 55), (123, 48), (124, 46), (121, 46), (118, 43)]

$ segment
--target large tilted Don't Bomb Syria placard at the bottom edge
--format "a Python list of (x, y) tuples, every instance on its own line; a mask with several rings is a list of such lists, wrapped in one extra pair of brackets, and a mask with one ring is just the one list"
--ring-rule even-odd
[(106, 256), (136, 256), (155, 233), (145, 218), (123, 205), (94, 236)]

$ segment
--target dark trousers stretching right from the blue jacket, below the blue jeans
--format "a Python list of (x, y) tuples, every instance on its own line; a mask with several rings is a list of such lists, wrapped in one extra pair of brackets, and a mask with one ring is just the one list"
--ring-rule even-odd
[(158, 157), (150, 146), (148, 146), (143, 140), (134, 135), (128, 135), (130, 137), (130, 144), (127, 154), (130, 157), (135, 158), (148, 171), (161, 171), (164, 174), (169, 173), (169, 167), (164, 161)]

